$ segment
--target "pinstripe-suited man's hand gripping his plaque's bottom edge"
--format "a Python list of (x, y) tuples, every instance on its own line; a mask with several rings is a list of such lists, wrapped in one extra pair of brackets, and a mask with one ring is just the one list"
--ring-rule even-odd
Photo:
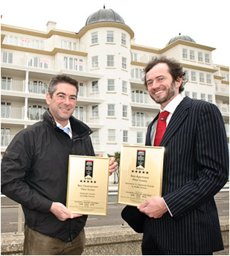
[(138, 210), (150, 218), (158, 219), (167, 212), (167, 207), (164, 204), (164, 199), (162, 197), (155, 196), (148, 199), (143, 204), (138, 205)]

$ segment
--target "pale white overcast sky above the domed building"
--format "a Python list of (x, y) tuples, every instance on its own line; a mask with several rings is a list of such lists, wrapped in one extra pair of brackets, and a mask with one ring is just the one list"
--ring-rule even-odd
[(214, 63), (230, 64), (229, 0), (1, 0), (1, 23), (46, 31), (54, 21), (57, 29), (79, 32), (104, 4), (132, 29), (136, 44), (163, 49), (180, 33), (216, 48)]

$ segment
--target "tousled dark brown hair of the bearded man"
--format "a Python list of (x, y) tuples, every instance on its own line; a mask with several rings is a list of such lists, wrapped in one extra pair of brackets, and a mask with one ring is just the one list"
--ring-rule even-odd
[(170, 75), (173, 78), (173, 82), (177, 81), (178, 78), (182, 79), (182, 84), (179, 87), (179, 93), (181, 93), (183, 90), (185, 90), (185, 84), (188, 80), (185, 78), (185, 71), (183, 71), (182, 66), (180, 66), (180, 63), (173, 59), (173, 58), (167, 58), (165, 56), (162, 57), (154, 57), (153, 60), (150, 60), (149, 63), (147, 63), (147, 66), (143, 69), (144, 71), (144, 78), (142, 79), (144, 81), (144, 85), (147, 87), (147, 80), (146, 80), (146, 74), (150, 71), (150, 69), (153, 68), (153, 66), (156, 66), (159, 63), (166, 63), (168, 66), (168, 71), (170, 72)]

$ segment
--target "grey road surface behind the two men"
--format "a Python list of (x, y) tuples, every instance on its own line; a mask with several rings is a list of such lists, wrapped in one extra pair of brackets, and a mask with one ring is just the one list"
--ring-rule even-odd
[[(229, 191), (220, 192), (215, 196), (219, 216), (229, 216)], [(107, 216), (88, 217), (86, 227), (123, 225), (121, 210), (124, 205), (109, 203)], [(17, 232), (19, 205), (16, 202), (1, 196), (1, 233)], [(23, 217), (24, 229), (24, 217)]]

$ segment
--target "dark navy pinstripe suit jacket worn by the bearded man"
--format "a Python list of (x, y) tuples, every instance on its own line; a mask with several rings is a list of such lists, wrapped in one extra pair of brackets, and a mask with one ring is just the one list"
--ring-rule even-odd
[[(147, 130), (147, 146), (153, 122)], [(160, 146), (165, 147), (162, 196), (173, 217), (167, 212), (162, 218), (149, 218), (130, 206), (122, 212), (135, 231), (144, 233), (143, 254), (152, 255), (153, 239), (182, 254), (223, 249), (214, 195), (228, 180), (229, 150), (220, 111), (214, 104), (185, 97)]]

